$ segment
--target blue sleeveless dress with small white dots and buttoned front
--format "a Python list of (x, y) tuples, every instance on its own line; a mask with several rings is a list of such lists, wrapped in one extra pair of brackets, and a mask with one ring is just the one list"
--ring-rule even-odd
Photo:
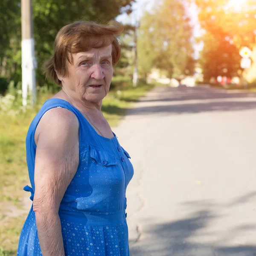
[[(59, 208), (65, 256), (128, 256), (125, 191), (134, 170), (116, 135), (96, 133), (84, 116), (63, 99), (49, 99), (33, 119), (26, 137), (26, 155), (33, 201), (35, 129), (51, 108), (66, 108), (79, 121), (79, 166)], [(18, 256), (41, 256), (32, 207), (20, 234)]]

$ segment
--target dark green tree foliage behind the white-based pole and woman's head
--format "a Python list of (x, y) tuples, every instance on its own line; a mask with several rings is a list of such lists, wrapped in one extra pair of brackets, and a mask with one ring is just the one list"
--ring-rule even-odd
[[(45, 83), (42, 64), (50, 57), (58, 30), (75, 20), (102, 23), (131, 9), (132, 0), (33, 0), (35, 55), (38, 85)], [(0, 1), (0, 76), (21, 81), (20, 0)]]

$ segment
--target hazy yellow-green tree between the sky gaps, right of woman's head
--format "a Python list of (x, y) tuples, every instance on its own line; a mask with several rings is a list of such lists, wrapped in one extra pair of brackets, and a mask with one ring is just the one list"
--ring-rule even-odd
[(145, 12), (138, 32), (141, 74), (151, 67), (165, 70), (169, 77), (185, 74), (192, 55), (192, 28), (182, 1), (163, 0), (153, 13)]

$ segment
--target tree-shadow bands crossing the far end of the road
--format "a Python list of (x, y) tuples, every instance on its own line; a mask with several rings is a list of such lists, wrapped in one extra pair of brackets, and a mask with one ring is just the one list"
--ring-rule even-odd
[[(152, 97), (142, 99), (140, 102), (144, 102), (144, 104), (148, 102), (148, 104), (134, 108), (127, 115), (148, 113), (182, 114), (256, 109), (256, 93), (230, 93), (226, 90), (202, 87), (168, 87), (158, 89), (156, 94), (157, 96), (153, 95)], [(191, 100), (195, 102), (189, 102)], [(161, 103), (158, 105), (157, 102)]]

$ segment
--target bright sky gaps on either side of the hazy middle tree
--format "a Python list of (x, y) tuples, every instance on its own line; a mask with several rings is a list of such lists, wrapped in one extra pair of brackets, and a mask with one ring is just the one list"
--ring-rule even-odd
[[(133, 12), (131, 14), (131, 17), (128, 17), (128, 15), (122, 14), (119, 15), (116, 20), (122, 23), (131, 23), (135, 24), (136, 20), (140, 20), (140, 18), (143, 16), (143, 12), (145, 11), (152, 11), (154, 9), (154, 4), (156, 2), (159, 2), (159, 0), (137, 0), (137, 3), (133, 5)], [(200, 23), (198, 21), (197, 16), (197, 6), (195, 3), (192, 3), (189, 7), (187, 7), (187, 13), (191, 19), (191, 24), (193, 26), (193, 38), (200, 37), (202, 35), (202, 30), (200, 27)], [(193, 47), (195, 49), (195, 55), (194, 57), (198, 59), (199, 52), (203, 48), (204, 44), (201, 42), (200, 44), (195, 44), (195, 40), (193, 40)]]

